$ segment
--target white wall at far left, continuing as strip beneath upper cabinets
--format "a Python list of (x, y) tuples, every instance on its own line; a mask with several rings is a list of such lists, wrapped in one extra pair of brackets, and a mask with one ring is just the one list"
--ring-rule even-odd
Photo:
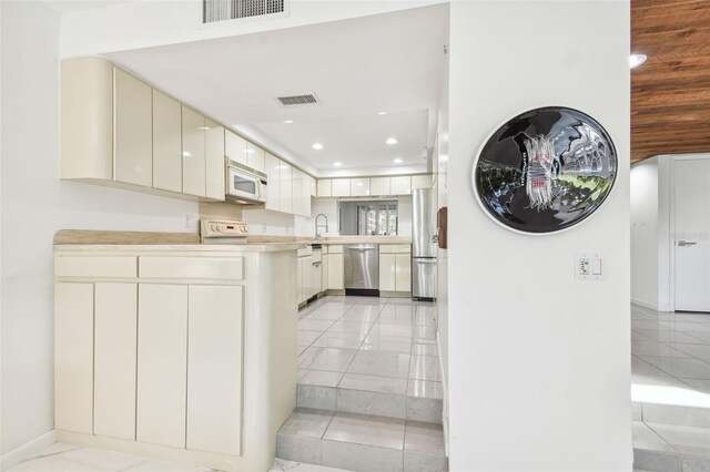
[[(52, 236), (60, 228), (196, 230), (197, 205), (59, 181), (58, 14), (0, 2), (1, 452), (53, 428)], [(184, 216), (193, 222), (184, 227)]]

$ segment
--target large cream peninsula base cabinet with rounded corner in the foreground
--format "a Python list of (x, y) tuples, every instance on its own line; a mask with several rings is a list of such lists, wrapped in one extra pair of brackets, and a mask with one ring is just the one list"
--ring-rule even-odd
[[(295, 408), (297, 316), (283, 297), (293, 290), (294, 254), (58, 253), (58, 440), (231, 472), (266, 470), (275, 431)], [(315, 270), (312, 256), (304, 259), (307, 295)], [(273, 284), (262, 283), (260, 269)], [(252, 356), (244, 356), (245, 338)]]

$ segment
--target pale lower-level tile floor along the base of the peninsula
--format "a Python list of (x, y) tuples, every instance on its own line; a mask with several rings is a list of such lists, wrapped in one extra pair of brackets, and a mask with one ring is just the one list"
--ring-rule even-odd
[[(20, 462), (7, 472), (209, 472), (212, 469), (196, 468), (169, 461), (156, 461), (139, 455), (123, 454), (92, 448), (55, 442), (38, 456)], [(339, 469), (276, 459), (268, 472), (344, 472)], [(345, 471), (346, 472), (346, 471)]]

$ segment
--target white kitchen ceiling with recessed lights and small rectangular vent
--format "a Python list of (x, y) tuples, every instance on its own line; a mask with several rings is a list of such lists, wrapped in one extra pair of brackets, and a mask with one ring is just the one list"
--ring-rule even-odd
[[(395, 157), (425, 170), (447, 14), (447, 6), (435, 6), (106, 57), (224, 124), (256, 130), (270, 141), (264, 145), (320, 174), (335, 161), (355, 173), (392, 173)], [(321, 104), (284, 107), (275, 100), (302, 93)], [(399, 144), (386, 145), (389, 136)], [(314, 142), (325, 148), (312, 150)]]

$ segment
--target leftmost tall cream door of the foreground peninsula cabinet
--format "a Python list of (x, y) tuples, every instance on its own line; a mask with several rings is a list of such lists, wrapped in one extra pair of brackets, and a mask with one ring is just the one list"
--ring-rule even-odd
[(93, 433), (93, 284), (54, 285), (54, 428)]

